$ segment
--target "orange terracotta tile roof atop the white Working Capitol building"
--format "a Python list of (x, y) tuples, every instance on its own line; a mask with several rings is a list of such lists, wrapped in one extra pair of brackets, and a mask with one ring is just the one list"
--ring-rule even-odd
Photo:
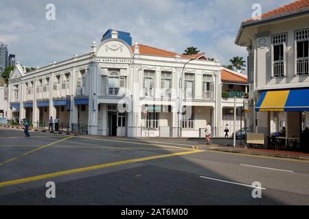
[[(146, 46), (144, 44), (139, 45), (139, 54), (142, 55), (158, 55), (163, 57), (175, 57), (177, 53), (173, 53), (171, 51), (166, 51), (164, 49), (158, 49), (155, 47)], [(132, 51), (134, 52), (134, 46), (131, 47)], [(200, 55), (204, 55), (205, 53), (198, 53), (196, 55), (181, 55), (183, 59), (192, 59), (193, 57), (198, 57)], [(201, 57), (201, 59), (206, 59), (205, 57)]]

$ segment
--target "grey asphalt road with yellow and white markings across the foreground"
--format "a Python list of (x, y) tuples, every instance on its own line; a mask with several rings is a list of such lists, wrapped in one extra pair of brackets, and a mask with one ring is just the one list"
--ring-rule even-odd
[[(309, 163), (0, 127), (0, 205), (308, 205)], [(47, 198), (45, 184), (56, 184)], [(262, 198), (253, 198), (253, 182)]]

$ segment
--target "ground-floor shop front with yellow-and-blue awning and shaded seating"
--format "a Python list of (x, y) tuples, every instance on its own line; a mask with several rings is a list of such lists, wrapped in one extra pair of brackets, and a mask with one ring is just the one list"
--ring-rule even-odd
[(308, 96), (307, 88), (262, 91), (255, 111), (258, 132), (265, 133), (268, 145), (301, 149), (304, 139), (307, 139), (304, 133), (309, 125)]

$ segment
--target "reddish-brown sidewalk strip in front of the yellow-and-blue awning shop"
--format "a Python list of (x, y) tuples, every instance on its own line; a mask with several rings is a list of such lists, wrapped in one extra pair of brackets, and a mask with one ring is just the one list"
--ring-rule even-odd
[(260, 155), (268, 157), (284, 157), (291, 159), (302, 159), (309, 162), (309, 153), (299, 152), (299, 151), (276, 151), (270, 149), (249, 149), (244, 146), (220, 146), (218, 144), (201, 144), (198, 146), (198, 149), (209, 150), (209, 151), (221, 151), (228, 153), (242, 153), (247, 155)]

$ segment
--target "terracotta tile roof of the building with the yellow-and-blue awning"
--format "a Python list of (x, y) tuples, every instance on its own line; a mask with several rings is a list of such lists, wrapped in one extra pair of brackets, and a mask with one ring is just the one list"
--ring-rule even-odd
[[(301, 9), (308, 8), (308, 7), (309, 7), (309, 0), (297, 0), (287, 5), (283, 5), (282, 7), (276, 8), (275, 10), (271, 10), (269, 12), (262, 14), (262, 18), (266, 18), (269, 16), (275, 16), (278, 14), (284, 14), (286, 12), (293, 12), (293, 11), (301, 10)], [(248, 19), (245, 22), (248, 22), (248, 21), (253, 21), (253, 19)]]

